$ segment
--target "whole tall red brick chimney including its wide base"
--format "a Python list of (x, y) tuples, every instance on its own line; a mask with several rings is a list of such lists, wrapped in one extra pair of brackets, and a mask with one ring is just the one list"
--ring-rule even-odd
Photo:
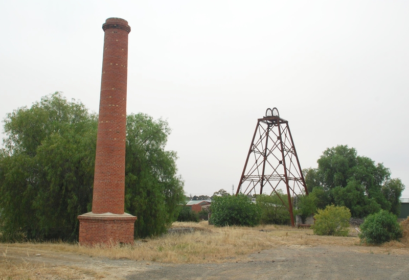
[(102, 60), (92, 212), (78, 216), (80, 244), (133, 243), (137, 217), (124, 213), (128, 22), (108, 18)]

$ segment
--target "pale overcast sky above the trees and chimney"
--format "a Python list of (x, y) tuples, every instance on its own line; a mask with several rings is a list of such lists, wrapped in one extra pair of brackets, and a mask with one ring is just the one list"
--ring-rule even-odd
[(348, 145), (409, 197), (408, 1), (0, 3), (2, 119), (55, 91), (98, 112), (101, 27), (121, 17), (127, 112), (168, 120), (187, 194), (237, 187), (257, 119), (277, 107), (302, 168)]

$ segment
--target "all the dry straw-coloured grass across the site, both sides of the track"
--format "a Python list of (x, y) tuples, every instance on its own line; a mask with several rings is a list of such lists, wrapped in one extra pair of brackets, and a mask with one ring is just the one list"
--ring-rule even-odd
[[(313, 235), (312, 229), (297, 229), (289, 226), (264, 225), (258, 227), (214, 227), (207, 222), (180, 223), (172, 227), (193, 227), (194, 232), (169, 234), (146, 240), (136, 240), (134, 245), (87, 247), (67, 243), (15, 243), (0, 244), (19, 250), (27, 250), (27, 258), (10, 261), (8, 252), (0, 256), (0, 279), (40, 279), (44, 275), (64, 275), (62, 278), (77, 279), (92, 272), (78, 271), (69, 267), (38, 265), (30, 262), (36, 252), (54, 252), (71, 255), (106, 256), (111, 259), (131, 259), (164, 263), (222, 263), (243, 261), (248, 254), (280, 246), (355, 246), (354, 250), (374, 253), (404, 253), (409, 248), (409, 221), (405, 221), (402, 242), (390, 242), (382, 246), (360, 246), (356, 230), (351, 227), (349, 237)], [(7, 247), (6, 247), (7, 248)], [(404, 248), (402, 250), (402, 248)], [(30, 253), (29, 253), (30, 252)], [(1, 252), (0, 252), (1, 253)], [(31, 255), (30, 255), (31, 254)], [(64, 271), (61, 271), (64, 270)], [(41, 274), (37, 274), (41, 271)], [(7, 278), (6, 278), (7, 275)], [(22, 277), (24, 275), (24, 277)], [(100, 278), (102, 275), (92, 275)]]

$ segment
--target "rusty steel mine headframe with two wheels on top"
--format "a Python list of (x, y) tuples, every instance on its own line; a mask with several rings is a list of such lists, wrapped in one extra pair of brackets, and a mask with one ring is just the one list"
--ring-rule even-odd
[[(268, 108), (257, 121), (236, 195), (240, 192), (277, 194), (290, 213), (291, 225), (295, 225), (292, 201), (303, 193), (308, 195), (308, 191), (288, 121), (280, 118), (277, 108)], [(288, 200), (288, 206), (284, 200)]]

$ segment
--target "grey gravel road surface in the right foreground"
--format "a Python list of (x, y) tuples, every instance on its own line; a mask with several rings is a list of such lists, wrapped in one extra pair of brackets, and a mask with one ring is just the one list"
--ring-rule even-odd
[(127, 279), (407, 279), (409, 256), (359, 253), (353, 248), (282, 247), (244, 263), (152, 267)]

